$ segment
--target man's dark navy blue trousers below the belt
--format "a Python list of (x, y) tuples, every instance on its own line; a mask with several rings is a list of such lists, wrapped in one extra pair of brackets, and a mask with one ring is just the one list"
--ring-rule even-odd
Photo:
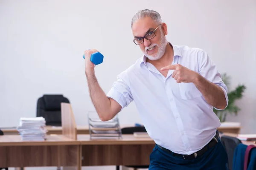
[(174, 156), (157, 145), (150, 155), (148, 170), (227, 170), (227, 153), (220, 140), (204, 155), (186, 160)]

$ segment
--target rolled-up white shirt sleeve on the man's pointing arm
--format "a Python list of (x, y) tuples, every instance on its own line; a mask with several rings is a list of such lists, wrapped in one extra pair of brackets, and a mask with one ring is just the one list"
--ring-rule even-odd
[[(199, 74), (201, 74), (201, 76), (203, 76), (210, 82), (213, 82), (215, 85), (218, 85), (219, 87), (221, 87), (221, 89), (224, 91), (224, 95), (228, 105), (227, 85), (225, 85), (224, 82), (222, 81), (221, 74), (218, 72), (216, 65), (212, 62), (209, 55), (205, 51), (201, 51), (201, 54), (198, 57), (198, 63), (199, 63)], [(225, 108), (227, 108), (227, 105)], [(224, 110), (219, 108), (215, 108), (215, 109)]]

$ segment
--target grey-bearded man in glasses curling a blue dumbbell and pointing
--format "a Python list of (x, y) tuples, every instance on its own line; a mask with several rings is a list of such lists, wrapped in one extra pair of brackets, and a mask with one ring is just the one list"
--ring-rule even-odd
[(227, 107), (227, 86), (204, 50), (172, 45), (166, 23), (152, 10), (138, 11), (131, 22), (133, 43), (143, 57), (120, 73), (106, 95), (95, 65), (85, 51), (85, 74), (90, 97), (102, 121), (112, 119), (135, 102), (156, 146), (151, 170), (226, 170), (227, 153), (213, 108)]

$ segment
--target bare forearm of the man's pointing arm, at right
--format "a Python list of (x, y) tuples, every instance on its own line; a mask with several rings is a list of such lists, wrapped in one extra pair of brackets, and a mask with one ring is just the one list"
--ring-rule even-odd
[(215, 108), (224, 109), (227, 105), (224, 91), (218, 85), (209, 82), (207, 79), (202, 77), (200, 74), (196, 76), (194, 82), (195, 86), (203, 94), (209, 105)]

